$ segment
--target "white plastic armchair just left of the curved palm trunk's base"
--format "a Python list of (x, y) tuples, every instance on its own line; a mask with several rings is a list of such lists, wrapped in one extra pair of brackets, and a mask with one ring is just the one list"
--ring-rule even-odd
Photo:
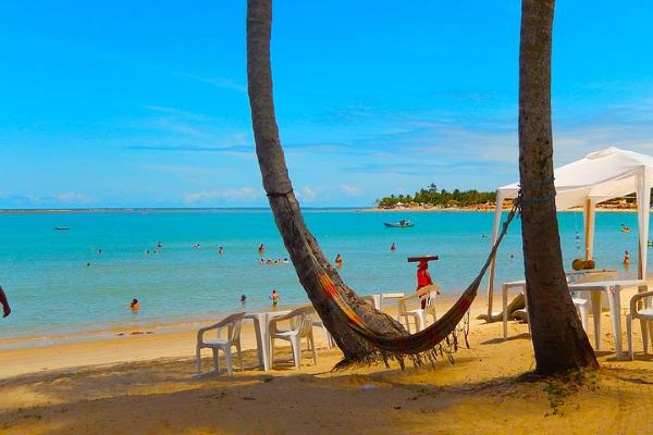
[[(275, 338), (291, 343), (295, 369), (299, 369), (299, 361), (301, 358), (301, 338), (307, 338), (310, 350), (312, 351), (313, 363), (317, 363), (318, 356), (316, 352), (316, 341), (312, 334), (313, 312), (315, 310), (312, 306), (305, 306), (270, 321), (270, 366), (272, 366), (274, 363)], [(288, 328), (284, 330), (280, 327), (279, 324), (284, 321), (289, 323)]]

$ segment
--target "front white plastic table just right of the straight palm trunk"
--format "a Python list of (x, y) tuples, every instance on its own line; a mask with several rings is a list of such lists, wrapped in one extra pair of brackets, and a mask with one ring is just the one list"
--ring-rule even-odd
[(591, 294), (592, 315), (594, 318), (594, 348), (601, 349), (601, 298), (607, 295), (609, 316), (613, 324), (613, 336), (615, 338), (615, 350), (617, 359), (623, 360), (621, 355), (621, 298), (620, 291), (629, 287), (646, 287), (644, 279), (614, 279), (599, 281), (595, 283), (569, 284), (569, 290), (588, 291)]

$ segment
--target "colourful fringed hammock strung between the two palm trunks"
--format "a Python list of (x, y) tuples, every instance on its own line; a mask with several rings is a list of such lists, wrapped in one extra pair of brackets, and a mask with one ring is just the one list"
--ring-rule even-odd
[[(503, 223), (502, 232), (494, 243), (494, 246), (492, 247), (492, 250), (490, 251), (490, 254), (488, 256), (488, 259), (485, 260), (485, 263), (481, 268), (481, 271), (477, 277), (463, 293), (456, 303), (454, 303), (454, 306), (442, 318), (427, 328), (416, 334), (399, 336), (389, 336), (386, 334), (381, 334), (373, 331), (365, 323), (362, 318), (347, 304), (331, 278), (326, 274), (323, 274), (320, 276), (320, 284), (331, 301), (333, 311), (337, 313), (355, 333), (368, 340), (372, 346), (381, 351), (393, 355), (418, 355), (432, 350), (435, 346), (447, 339), (449, 335), (456, 332), (458, 324), (465, 314), (468, 313), (469, 307), (477, 296), (481, 281), (490, 268), (492, 260), (496, 256), (496, 251), (501, 245), (501, 241), (503, 240), (503, 237), (508, 231), (508, 225), (519, 210), (519, 204), (520, 198), (515, 200), (513, 209), (510, 210), (506, 221)], [(455, 337), (454, 346), (457, 346)]]

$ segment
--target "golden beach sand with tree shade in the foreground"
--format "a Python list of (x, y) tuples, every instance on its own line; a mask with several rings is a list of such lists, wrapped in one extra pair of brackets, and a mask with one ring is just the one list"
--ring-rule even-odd
[[(317, 365), (304, 353), (295, 371), (285, 349), (268, 373), (196, 377), (192, 331), (4, 350), (0, 433), (653, 433), (653, 357), (637, 335), (636, 361), (615, 361), (602, 320), (602, 369), (582, 383), (525, 380), (533, 369), (527, 326), (512, 323), (503, 341), (501, 323), (479, 321), (455, 364), (405, 371), (331, 372), (337, 349), (321, 349)], [(249, 327), (245, 339), (252, 347)], [(245, 365), (255, 361), (246, 351)], [(209, 358), (204, 363), (208, 370)]]

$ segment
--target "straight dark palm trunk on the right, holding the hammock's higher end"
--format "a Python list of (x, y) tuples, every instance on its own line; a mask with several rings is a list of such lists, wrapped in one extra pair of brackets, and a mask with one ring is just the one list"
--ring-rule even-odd
[(553, 181), (551, 46), (554, 0), (522, 0), (519, 47), (521, 235), (537, 372), (597, 366), (563, 270)]

